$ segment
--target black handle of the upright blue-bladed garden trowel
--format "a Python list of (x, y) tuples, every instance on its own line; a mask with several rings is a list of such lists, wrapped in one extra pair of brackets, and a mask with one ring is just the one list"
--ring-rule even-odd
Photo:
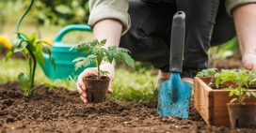
[(172, 20), (170, 37), (170, 72), (182, 72), (184, 59), (185, 14), (178, 11)]

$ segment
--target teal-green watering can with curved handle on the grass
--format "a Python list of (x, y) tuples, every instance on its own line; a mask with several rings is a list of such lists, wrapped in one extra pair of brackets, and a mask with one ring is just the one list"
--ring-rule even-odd
[(51, 64), (49, 55), (45, 53), (43, 53), (45, 66), (40, 64), (45, 75), (51, 80), (69, 80), (70, 77), (75, 79), (85, 69), (85, 67), (81, 67), (74, 70), (74, 63), (72, 63), (72, 60), (75, 58), (85, 56), (85, 52), (78, 53), (77, 50), (70, 51), (74, 44), (65, 44), (62, 42), (62, 38), (72, 31), (91, 32), (88, 25), (72, 24), (64, 27), (57, 34), (52, 48), (52, 54), (56, 62), (56, 67)]

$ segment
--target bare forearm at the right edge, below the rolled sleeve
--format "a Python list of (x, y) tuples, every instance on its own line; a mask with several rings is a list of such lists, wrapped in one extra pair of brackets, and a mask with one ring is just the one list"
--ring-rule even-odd
[(256, 54), (256, 4), (236, 7), (232, 11), (242, 55)]

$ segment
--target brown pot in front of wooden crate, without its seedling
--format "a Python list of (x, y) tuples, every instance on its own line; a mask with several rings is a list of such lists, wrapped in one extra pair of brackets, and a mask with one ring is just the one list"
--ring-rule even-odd
[(232, 128), (256, 127), (256, 104), (228, 103)]

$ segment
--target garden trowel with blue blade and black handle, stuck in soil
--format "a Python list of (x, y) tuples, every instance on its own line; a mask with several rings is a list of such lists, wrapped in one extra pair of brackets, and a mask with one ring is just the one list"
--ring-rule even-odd
[(157, 113), (187, 118), (191, 87), (181, 79), (184, 58), (185, 14), (178, 11), (172, 21), (170, 38), (170, 79), (159, 88)]

